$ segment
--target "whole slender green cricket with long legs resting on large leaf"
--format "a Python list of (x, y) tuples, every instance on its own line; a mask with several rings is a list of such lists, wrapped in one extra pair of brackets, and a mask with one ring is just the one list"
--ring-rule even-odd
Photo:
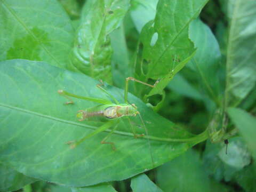
[[(143, 85), (147, 85), (150, 87), (155, 87), (156, 84), (158, 83), (158, 81), (154, 84), (154, 85), (150, 85), (147, 84), (145, 82), (141, 82), (138, 79), (135, 79), (133, 77), (127, 77), (126, 81), (125, 81), (125, 91), (124, 91), (124, 102), (125, 103), (119, 103), (115, 97), (113, 95), (111, 95), (110, 93), (107, 92), (107, 90), (105, 90), (102, 86), (103, 86), (103, 82), (101, 81), (101, 84), (97, 84), (97, 87), (103, 91), (104, 93), (106, 93), (107, 95), (109, 95), (109, 97), (111, 99), (113, 99), (113, 101), (115, 103), (113, 103), (110, 100), (107, 99), (100, 99), (100, 98), (90, 98), (90, 97), (83, 97), (83, 96), (79, 96), (79, 95), (75, 95), (72, 93), (68, 93), (64, 90), (58, 90), (58, 93), (60, 95), (62, 95), (63, 97), (67, 98), (69, 101), (66, 102), (66, 104), (73, 104), (73, 100), (71, 100), (69, 97), (74, 97), (74, 98), (78, 98), (78, 99), (84, 99), (87, 101), (92, 101), (92, 102), (97, 102), (100, 103), (101, 105), (95, 106), (95, 107), (90, 107), (84, 110), (78, 110), (76, 117), (78, 118), (78, 121), (84, 121), (84, 120), (88, 120), (88, 121), (100, 121), (100, 122), (105, 122), (105, 124), (103, 124), (102, 126), (98, 127), (97, 130), (93, 131), (92, 133), (85, 135), (85, 137), (83, 137), (82, 139), (78, 140), (78, 141), (69, 141), (68, 144), (71, 144), (70, 148), (75, 148), (76, 146), (78, 146), (80, 143), (82, 143), (85, 139), (88, 139), (90, 137), (92, 137), (95, 134), (98, 134), (102, 131), (105, 131), (107, 129), (109, 129), (110, 127), (114, 127), (109, 134), (101, 141), (102, 144), (110, 144), (112, 149), (115, 150), (115, 145), (113, 142), (107, 142), (106, 140), (110, 137), (110, 135), (116, 130), (117, 125), (119, 123), (119, 119), (121, 118), (127, 118), (129, 120), (129, 124), (131, 126), (131, 130), (133, 132), (133, 135), (135, 138), (138, 137), (143, 137), (144, 134), (136, 134), (135, 130), (133, 128), (133, 125), (130, 121), (129, 116), (139, 116), (140, 120), (142, 122), (142, 125), (145, 129), (145, 133), (147, 133), (147, 128), (145, 126), (145, 123), (143, 122), (143, 119), (138, 111), (137, 106), (135, 106), (135, 104), (131, 104), (128, 102), (127, 99), (127, 95), (128, 95), (128, 85), (129, 85), (129, 81), (134, 81), (134, 82), (138, 82), (141, 83)], [(148, 140), (149, 142), (149, 140)], [(150, 147), (150, 143), (149, 143), (149, 147)], [(151, 150), (151, 149), (150, 149)]]

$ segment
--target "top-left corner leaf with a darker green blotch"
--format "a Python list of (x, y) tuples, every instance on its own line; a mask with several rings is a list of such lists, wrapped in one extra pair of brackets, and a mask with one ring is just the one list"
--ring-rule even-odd
[(0, 61), (29, 59), (66, 68), (74, 29), (57, 1), (0, 1)]

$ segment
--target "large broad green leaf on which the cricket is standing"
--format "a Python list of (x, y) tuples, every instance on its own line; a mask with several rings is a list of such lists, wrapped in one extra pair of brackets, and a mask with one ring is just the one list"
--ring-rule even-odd
[[(140, 118), (131, 117), (136, 132), (146, 134), (134, 139), (129, 122), (121, 118), (118, 131), (108, 139), (115, 143), (115, 151), (100, 144), (109, 130), (70, 149), (66, 142), (82, 138), (104, 123), (78, 122), (78, 110), (98, 104), (74, 99), (75, 105), (63, 105), (67, 99), (57, 91), (109, 99), (97, 88), (99, 82), (38, 61), (3, 61), (0, 71), (0, 161), (30, 177), (73, 187), (123, 180), (170, 161), (207, 138), (207, 132), (194, 137), (179, 129), (129, 94), (148, 135)], [(124, 102), (123, 90), (110, 85), (105, 89)]]

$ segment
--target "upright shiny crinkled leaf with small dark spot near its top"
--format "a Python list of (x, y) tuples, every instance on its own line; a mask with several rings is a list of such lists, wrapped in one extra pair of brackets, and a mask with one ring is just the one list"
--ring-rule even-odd
[(128, 8), (129, 0), (86, 1), (68, 67), (70, 70), (111, 83), (112, 49), (108, 35), (119, 26)]

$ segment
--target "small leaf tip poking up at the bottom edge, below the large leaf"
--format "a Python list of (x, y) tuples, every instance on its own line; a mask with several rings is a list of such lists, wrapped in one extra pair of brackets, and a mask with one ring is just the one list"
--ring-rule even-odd
[(132, 178), (131, 188), (133, 192), (163, 192), (146, 174), (140, 174)]

